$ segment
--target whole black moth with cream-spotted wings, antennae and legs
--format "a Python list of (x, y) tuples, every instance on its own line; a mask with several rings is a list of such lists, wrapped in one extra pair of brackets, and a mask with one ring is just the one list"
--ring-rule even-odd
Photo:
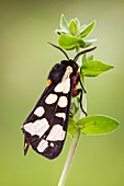
[[(60, 47), (49, 44), (59, 49), (67, 60), (56, 63), (49, 71), (46, 89), (25, 119), (22, 131), (24, 133), (24, 154), (31, 146), (43, 156), (55, 159), (61, 152), (66, 139), (71, 97), (80, 94), (80, 108), (87, 115), (81, 104), (84, 89), (76, 61), (79, 56), (95, 47), (80, 51), (72, 60)], [(81, 89), (76, 88), (78, 83)]]

